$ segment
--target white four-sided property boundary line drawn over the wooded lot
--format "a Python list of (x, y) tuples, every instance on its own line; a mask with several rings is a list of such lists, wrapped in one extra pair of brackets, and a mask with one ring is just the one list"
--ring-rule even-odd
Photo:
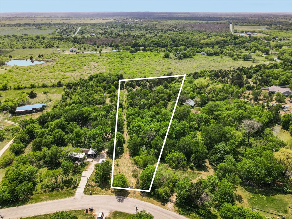
[[(155, 168), (155, 171), (154, 171), (154, 175), (153, 175), (149, 190), (134, 189), (134, 188), (131, 189), (131, 188), (122, 188), (122, 187), (114, 187), (114, 186), (112, 186), (113, 178), (114, 178), (114, 156), (115, 156), (115, 152), (116, 152), (116, 140), (117, 140), (117, 127), (118, 127), (118, 114), (119, 114), (119, 100), (120, 100), (121, 81), (135, 81), (135, 80), (147, 80), (147, 79), (158, 79), (158, 78), (173, 78), (173, 77), (183, 77), (183, 81), (182, 81), (182, 84), (180, 86), (180, 91), (178, 92), (178, 97), (176, 98), (174, 109), (173, 109), (173, 112), (172, 112), (172, 115), (171, 115), (171, 119), (170, 119), (170, 122), (169, 122), (169, 125), (168, 125), (168, 128), (167, 128), (167, 131), (166, 131), (164, 142), (163, 142), (163, 145), (162, 145), (162, 148), (161, 148), (161, 152), (159, 154), (159, 158), (158, 158), (158, 161), (157, 161), (157, 165), (156, 165), (156, 168)], [(170, 125), (171, 125), (171, 121), (173, 119), (175, 108), (176, 108), (176, 105), (178, 104), (178, 98), (180, 97), (180, 92), (182, 91), (182, 88), (183, 88), (183, 82), (184, 81), (185, 81), (185, 74), (171, 75), (171, 76), (161, 76), (161, 77), (133, 78), (133, 79), (119, 80), (118, 101), (117, 101), (117, 115), (116, 115), (116, 130), (115, 130), (115, 133), (114, 133), (114, 154), (113, 154), (113, 158), (112, 158), (112, 180), (111, 180), (111, 186), (110, 186), (112, 189), (123, 189), (123, 190), (133, 190), (133, 191), (141, 191), (141, 192), (150, 192), (152, 184), (153, 184), (153, 181), (154, 181), (154, 177), (155, 177), (155, 174), (156, 174), (156, 171), (157, 171), (157, 168), (158, 168), (158, 164), (159, 164), (159, 161), (160, 161), (160, 158), (161, 158), (161, 154), (162, 154), (165, 142), (166, 142), (166, 138), (167, 138), (168, 131), (169, 131), (169, 128), (170, 128)]]

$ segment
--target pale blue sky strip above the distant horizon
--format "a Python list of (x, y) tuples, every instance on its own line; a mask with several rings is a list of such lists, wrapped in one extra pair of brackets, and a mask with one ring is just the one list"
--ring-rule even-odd
[(0, 0), (0, 12), (291, 12), (292, 0)]

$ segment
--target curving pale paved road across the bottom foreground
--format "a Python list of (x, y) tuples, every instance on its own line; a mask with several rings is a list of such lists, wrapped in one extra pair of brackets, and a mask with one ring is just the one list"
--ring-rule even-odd
[(20, 217), (53, 213), (56, 211), (85, 210), (85, 208), (93, 207), (93, 210), (95, 210), (96, 213), (102, 211), (107, 215), (110, 211), (134, 213), (136, 211), (135, 205), (138, 206), (139, 211), (145, 209), (145, 211), (150, 212), (154, 215), (155, 219), (186, 219), (182, 215), (178, 215), (172, 211), (132, 198), (111, 195), (89, 196), (84, 194), (76, 194), (74, 197), (66, 199), (45, 201), (13, 208), (2, 208), (0, 214), (3, 214), (5, 219), (16, 219)]

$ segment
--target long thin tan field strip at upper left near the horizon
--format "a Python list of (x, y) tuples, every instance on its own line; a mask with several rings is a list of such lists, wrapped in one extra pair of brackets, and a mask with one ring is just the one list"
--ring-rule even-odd
[(114, 22), (113, 19), (72, 19), (72, 20), (63, 20), (63, 19), (49, 19), (49, 18), (36, 18), (36, 19), (20, 19), (20, 20), (1, 20), (3, 24), (25, 24), (25, 23), (105, 23), (105, 22)]

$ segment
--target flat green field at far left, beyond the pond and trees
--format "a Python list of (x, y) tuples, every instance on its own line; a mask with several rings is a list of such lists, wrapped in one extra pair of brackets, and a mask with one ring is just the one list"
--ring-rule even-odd
[(55, 29), (34, 29), (33, 27), (0, 27), (0, 35), (49, 34)]

